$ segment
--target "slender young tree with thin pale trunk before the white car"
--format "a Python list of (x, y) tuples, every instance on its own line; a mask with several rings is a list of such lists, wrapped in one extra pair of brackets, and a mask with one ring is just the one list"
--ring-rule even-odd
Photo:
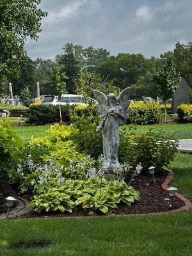
[(60, 122), (62, 121), (61, 116), (61, 105), (60, 105), (60, 99), (61, 95), (66, 93), (66, 83), (63, 82), (63, 79), (67, 79), (65, 73), (63, 73), (63, 67), (62, 66), (56, 66), (52, 68), (51, 72), (51, 88), (52, 88), (52, 95), (57, 95), (59, 100), (59, 106), (60, 106)]

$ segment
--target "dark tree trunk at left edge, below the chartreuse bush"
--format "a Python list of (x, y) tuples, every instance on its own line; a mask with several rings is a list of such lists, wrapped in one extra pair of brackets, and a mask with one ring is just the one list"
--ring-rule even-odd
[(10, 183), (8, 174), (5, 171), (0, 172), (0, 205), (3, 204), (3, 198), (10, 196)]

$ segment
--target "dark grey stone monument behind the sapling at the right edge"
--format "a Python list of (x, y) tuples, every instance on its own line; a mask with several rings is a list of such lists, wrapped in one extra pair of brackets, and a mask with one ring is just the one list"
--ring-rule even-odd
[(189, 103), (189, 85), (184, 78), (180, 80), (180, 86), (172, 95), (172, 113), (176, 113), (177, 107), (182, 103)]

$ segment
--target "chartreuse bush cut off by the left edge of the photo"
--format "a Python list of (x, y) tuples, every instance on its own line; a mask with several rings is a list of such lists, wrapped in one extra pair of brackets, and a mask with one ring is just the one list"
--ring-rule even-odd
[(23, 143), (7, 120), (0, 118), (0, 173), (13, 174), (14, 163), (20, 161)]

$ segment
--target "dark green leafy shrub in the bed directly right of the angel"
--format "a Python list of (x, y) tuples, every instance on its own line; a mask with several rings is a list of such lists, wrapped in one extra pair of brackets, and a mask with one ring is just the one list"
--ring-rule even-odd
[(125, 161), (134, 167), (141, 163), (144, 171), (150, 166), (161, 170), (173, 161), (176, 152), (177, 141), (169, 140), (162, 131), (141, 134), (128, 134), (125, 129), (121, 131), (119, 156), (122, 163)]

